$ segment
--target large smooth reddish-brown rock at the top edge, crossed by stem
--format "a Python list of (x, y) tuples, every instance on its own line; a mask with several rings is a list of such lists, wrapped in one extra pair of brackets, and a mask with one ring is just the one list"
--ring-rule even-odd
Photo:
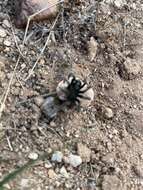
[[(33, 21), (42, 21), (55, 17), (58, 11), (59, 0), (21, 0), (16, 4), (16, 26), (18, 28), (25, 27), (27, 18), (42, 9), (43, 12), (33, 17)], [(54, 5), (54, 6), (53, 6)], [(49, 7), (49, 8), (48, 8)]]

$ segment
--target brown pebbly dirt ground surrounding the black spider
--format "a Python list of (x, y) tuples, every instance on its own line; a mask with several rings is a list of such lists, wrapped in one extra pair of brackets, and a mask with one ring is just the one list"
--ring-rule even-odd
[[(77, 3), (79, 2), (79, 3)], [(0, 102), (20, 55), (0, 120), (0, 179), (29, 159), (37, 162), (5, 185), (12, 190), (143, 189), (143, 2), (69, 1), (34, 73), (53, 20), (24, 30), (13, 23), (11, 1), (0, 0)], [(97, 43), (89, 57), (89, 41)], [(21, 49), (21, 51), (20, 51)], [(94, 47), (91, 47), (94, 50)], [(86, 78), (95, 99), (80, 112), (39, 119), (33, 97), (54, 91), (73, 72)], [(51, 160), (55, 151), (80, 156), (72, 167)]]

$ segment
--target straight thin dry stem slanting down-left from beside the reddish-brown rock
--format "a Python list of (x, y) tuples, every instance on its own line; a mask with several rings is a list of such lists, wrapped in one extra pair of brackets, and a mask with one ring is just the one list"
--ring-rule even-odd
[(49, 35), (48, 35), (48, 37), (47, 37), (47, 40), (46, 40), (46, 42), (45, 42), (45, 45), (44, 45), (43, 49), (41, 50), (41, 52), (40, 52), (40, 54), (39, 54), (39, 56), (38, 56), (36, 62), (34, 63), (32, 69), (30, 70), (29, 75), (24, 79), (24, 81), (27, 81), (27, 80), (30, 78), (30, 76), (33, 74), (33, 71), (34, 71), (34, 69), (35, 69), (37, 63), (38, 63), (39, 60), (41, 59), (41, 56), (43, 55), (43, 53), (44, 53), (44, 51), (45, 51), (45, 49), (46, 49), (46, 47), (47, 47), (47, 45), (48, 45), (48, 42), (49, 42), (49, 40), (50, 40), (50, 36), (51, 36), (52, 30), (54, 29), (54, 27), (55, 27), (55, 25), (56, 25), (56, 22), (57, 22), (57, 20), (58, 20), (59, 15), (60, 15), (60, 13), (57, 15), (57, 17), (56, 17), (56, 19), (55, 19), (53, 25), (51, 26), (51, 28), (50, 28), (50, 33), (49, 33)]

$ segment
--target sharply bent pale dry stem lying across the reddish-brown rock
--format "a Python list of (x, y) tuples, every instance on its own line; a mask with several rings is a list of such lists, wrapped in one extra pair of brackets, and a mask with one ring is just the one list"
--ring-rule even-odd
[(25, 34), (24, 34), (24, 39), (23, 39), (23, 45), (25, 44), (26, 36), (27, 36), (28, 28), (29, 28), (29, 24), (30, 24), (30, 21), (32, 20), (32, 18), (34, 18), (36, 15), (38, 15), (38, 14), (40, 14), (40, 13), (42, 13), (42, 12), (44, 12), (44, 11), (52, 8), (52, 7), (54, 7), (54, 6), (56, 6), (56, 5), (60, 4), (60, 3), (63, 3), (63, 2), (64, 2), (64, 0), (59, 0), (59, 2), (54, 3), (51, 6), (45, 7), (44, 9), (41, 9), (40, 11), (37, 11), (36, 13), (34, 13), (33, 15), (30, 15), (28, 17), (27, 25), (26, 25), (26, 29), (25, 29)]

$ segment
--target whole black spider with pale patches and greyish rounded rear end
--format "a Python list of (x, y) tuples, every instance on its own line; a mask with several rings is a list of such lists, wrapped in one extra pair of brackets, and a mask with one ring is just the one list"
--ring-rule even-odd
[(67, 79), (62, 80), (56, 93), (49, 95), (42, 105), (42, 111), (50, 120), (54, 118), (60, 110), (72, 108), (77, 105), (88, 106), (94, 98), (94, 92), (88, 87), (85, 81), (79, 80), (73, 74), (69, 74)]

